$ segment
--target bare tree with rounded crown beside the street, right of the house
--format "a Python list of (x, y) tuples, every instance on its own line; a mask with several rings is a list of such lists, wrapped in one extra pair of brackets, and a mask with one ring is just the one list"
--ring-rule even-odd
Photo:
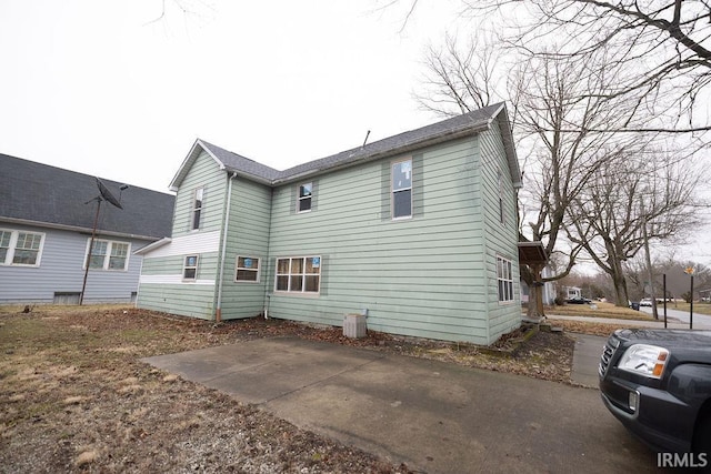
[(640, 140), (600, 153), (608, 158), (568, 208), (568, 238), (610, 275), (617, 305), (627, 306), (624, 262), (645, 239), (673, 239), (700, 223), (699, 174), (689, 160), (674, 160)]

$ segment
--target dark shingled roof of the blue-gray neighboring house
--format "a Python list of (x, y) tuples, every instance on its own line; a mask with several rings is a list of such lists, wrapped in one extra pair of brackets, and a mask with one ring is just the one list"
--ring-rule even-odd
[[(101, 179), (119, 196), (118, 183)], [(0, 222), (59, 228), (93, 228), (99, 195), (94, 177), (0, 154)], [(176, 198), (131, 186), (121, 194), (123, 210), (101, 204), (100, 232), (160, 239), (172, 231)], [(0, 224), (2, 225), (2, 224)]]

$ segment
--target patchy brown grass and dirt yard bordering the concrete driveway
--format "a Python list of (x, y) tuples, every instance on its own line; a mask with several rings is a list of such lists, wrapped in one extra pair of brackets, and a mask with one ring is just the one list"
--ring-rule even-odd
[(1, 472), (409, 472), (138, 360), (290, 335), (569, 382), (573, 351), (570, 337), (551, 333), (497, 355), (280, 320), (214, 325), (117, 306), (0, 311)]

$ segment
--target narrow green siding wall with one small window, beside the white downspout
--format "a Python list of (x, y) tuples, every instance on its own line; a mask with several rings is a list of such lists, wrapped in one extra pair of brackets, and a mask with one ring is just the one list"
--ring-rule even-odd
[[(230, 223), (222, 280), (222, 319), (250, 317), (262, 313), (268, 280), (271, 188), (237, 178), (232, 182)], [(296, 209), (296, 208), (294, 208)], [(260, 281), (236, 282), (237, 258), (260, 259)]]

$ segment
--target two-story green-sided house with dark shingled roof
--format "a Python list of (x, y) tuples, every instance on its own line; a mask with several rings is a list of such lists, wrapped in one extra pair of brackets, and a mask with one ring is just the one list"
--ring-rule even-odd
[(490, 344), (521, 324), (510, 130), (495, 104), (286, 171), (197, 140), (137, 304)]

